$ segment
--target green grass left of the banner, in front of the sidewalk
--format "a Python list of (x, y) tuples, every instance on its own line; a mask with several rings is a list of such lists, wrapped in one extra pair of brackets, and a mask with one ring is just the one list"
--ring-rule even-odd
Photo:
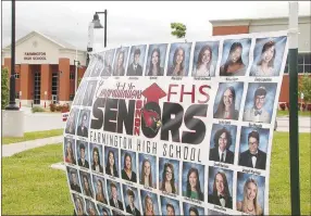
[(73, 215), (66, 176), (51, 164), (62, 161), (62, 144), (2, 157), (3, 215)]

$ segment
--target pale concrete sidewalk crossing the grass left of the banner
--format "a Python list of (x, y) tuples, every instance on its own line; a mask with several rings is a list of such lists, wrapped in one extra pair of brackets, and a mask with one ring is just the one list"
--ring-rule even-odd
[(2, 144), (2, 157), (4, 156), (12, 156), (13, 154), (34, 149), (37, 147), (43, 147), (47, 144), (54, 144), (63, 142), (64, 137), (63, 136), (57, 136), (57, 137), (49, 137), (43, 139), (36, 139), (36, 140), (29, 140), (25, 142), (16, 142), (12, 144)]

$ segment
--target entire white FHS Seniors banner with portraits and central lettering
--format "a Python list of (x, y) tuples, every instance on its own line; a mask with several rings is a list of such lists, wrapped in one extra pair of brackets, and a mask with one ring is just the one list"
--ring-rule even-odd
[(94, 53), (64, 130), (77, 215), (268, 215), (287, 31)]

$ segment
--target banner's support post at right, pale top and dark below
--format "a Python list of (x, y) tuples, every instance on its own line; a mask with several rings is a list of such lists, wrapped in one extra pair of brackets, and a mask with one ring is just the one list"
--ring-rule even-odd
[(298, 129), (298, 2), (289, 2), (289, 161), (291, 215), (300, 215)]

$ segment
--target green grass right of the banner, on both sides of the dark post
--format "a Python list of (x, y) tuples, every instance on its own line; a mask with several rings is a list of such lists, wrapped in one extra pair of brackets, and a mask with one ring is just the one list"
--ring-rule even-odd
[[(290, 215), (289, 134), (274, 132), (270, 171), (270, 214)], [(302, 215), (310, 215), (310, 140), (299, 135), (300, 206)]]

